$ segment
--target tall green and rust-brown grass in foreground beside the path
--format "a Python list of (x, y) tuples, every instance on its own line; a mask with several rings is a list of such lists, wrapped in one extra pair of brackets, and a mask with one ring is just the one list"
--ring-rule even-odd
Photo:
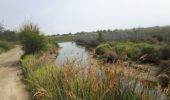
[(56, 66), (48, 57), (37, 55), (27, 55), (22, 60), (28, 89), (36, 100), (150, 100), (152, 97), (143, 89), (137, 90), (137, 80), (113, 66), (96, 66), (84, 68), (73, 62)]

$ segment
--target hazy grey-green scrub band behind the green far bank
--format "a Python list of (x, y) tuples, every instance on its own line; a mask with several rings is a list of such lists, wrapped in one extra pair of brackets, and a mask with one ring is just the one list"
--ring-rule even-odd
[(92, 46), (104, 41), (170, 42), (170, 26), (79, 32), (74, 35), (74, 40)]

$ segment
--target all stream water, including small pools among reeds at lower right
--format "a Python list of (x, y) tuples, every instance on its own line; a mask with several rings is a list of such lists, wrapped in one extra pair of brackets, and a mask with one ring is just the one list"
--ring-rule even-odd
[[(83, 66), (88, 65), (88, 51), (85, 49), (85, 47), (79, 46), (74, 42), (63, 42), (58, 43), (61, 49), (59, 50), (58, 57), (55, 61), (57, 65), (62, 65), (69, 61), (74, 61), (74, 63), (81, 64)], [(86, 67), (88, 68), (88, 67)], [(96, 69), (96, 71), (99, 73), (99, 76), (104, 76), (103, 73), (99, 69)], [(86, 73), (86, 70), (84, 70)], [(84, 74), (85, 75), (85, 74)], [(133, 91), (131, 89), (133, 84), (130, 84), (130, 82), (121, 81), (121, 90), (129, 89), (130, 91)], [(135, 92), (138, 95), (141, 95), (141, 93), (145, 93), (146, 95), (149, 95), (151, 97), (151, 100), (167, 100), (167, 97), (164, 93), (162, 93), (160, 90), (157, 89), (144, 89), (141, 82), (137, 82), (135, 86)]]

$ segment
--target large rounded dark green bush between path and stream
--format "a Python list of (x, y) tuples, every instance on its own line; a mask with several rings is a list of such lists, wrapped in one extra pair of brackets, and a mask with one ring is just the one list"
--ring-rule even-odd
[(37, 25), (25, 24), (20, 29), (20, 39), (25, 54), (37, 53), (47, 49), (47, 39), (40, 34)]

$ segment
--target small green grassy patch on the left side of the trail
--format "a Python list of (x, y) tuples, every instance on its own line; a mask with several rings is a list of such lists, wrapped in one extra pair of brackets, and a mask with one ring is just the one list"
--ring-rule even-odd
[(0, 53), (6, 52), (13, 47), (14, 47), (14, 44), (12, 42), (0, 40)]

